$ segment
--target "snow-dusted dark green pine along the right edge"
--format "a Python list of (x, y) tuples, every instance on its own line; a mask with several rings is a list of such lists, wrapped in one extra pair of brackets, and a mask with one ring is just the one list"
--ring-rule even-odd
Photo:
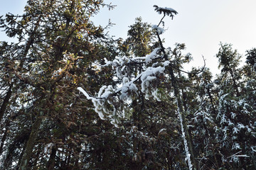
[(228, 163), (223, 167), (253, 169), (255, 125), (251, 120), (254, 120), (254, 104), (247, 100), (250, 95), (245, 93), (250, 81), (240, 83), (243, 77), (242, 69), (238, 69), (241, 55), (231, 45), (221, 44), (217, 57), (223, 69), (216, 80), (219, 93), (215, 138), (222, 144), (218, 146), (222, 162)]

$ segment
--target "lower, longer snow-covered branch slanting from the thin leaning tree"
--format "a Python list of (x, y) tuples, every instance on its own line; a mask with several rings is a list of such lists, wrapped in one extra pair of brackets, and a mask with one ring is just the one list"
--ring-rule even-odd
[[(144, 60), (145, 59), (146, 57), (144, 58)], [(105, 66), (114, 64), (114, 66), (117, 67), (116, 70), (119, 70), (118, 68), (122, 68), (123, 65), (115, 65), (117, 63), (117, 61), (107, 62)], [(113, 86), (102, 86), (100, 88), (100, 91), (97, 93), (97, 97), (88, 94), (87, 91), (83, 90), (81, 87), (78, 87), (78, 90), (82, 92), (82, 94), (84, 94), (88, 100), (92, 101), (95, 106), (95, 111), (100, 115), (100, 118), (105, 119), (105, 115), (107, 115), (107, 117), (110, 117), (111, 114), (117, 114), (115, 103), (123, 103), (127, 100), (127, 98), (129, 98), (129, 94), (137, 93), (138, 87), (136, 84), (134, 84), (136, 81), (140, 81), (140, 88), (142, 89), (142, 92), (148, 93), (148, 88), (149, 86), (151, 86), (151, 81), (154, 81), (158, 75), (162, 74), (165, 71), (165, 67), (169, 66), (168, 61), (162, 62), (160, 64), (162, 66), (160, 65), (158, 67), (147, 67), (142, 73), (137, 75), (137, 77), (132, 80), (129, 80), (125, 75), (116, 72), (116, 74), (119, 74), (117, 75), (117, 77), (119, 79), (122, 79), (123, 81), (122, 85), (120, 84), (119, 88), (115, 88)], [(113, 106), (113, 111), (108, 111), (108, 109), (105, 108), (105, 104), (107, 103)], [(117, 125), (116, 122), (117, 121), (114, 121), (114, 125)]]

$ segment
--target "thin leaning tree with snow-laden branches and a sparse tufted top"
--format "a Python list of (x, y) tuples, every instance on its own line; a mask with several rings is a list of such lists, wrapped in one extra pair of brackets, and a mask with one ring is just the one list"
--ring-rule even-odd
[[(159, 8), (158, 6), (155, 6), (155, 8), (157, 11), (164, 13), (164, 16), (173, 16), (177, 13), (172, 8)], [(161, 24), (161, 21), (159, 25)], [(140, 94), (145, 96), (144, 98), (146, 100), (149, 98), (155, 98), (156, 101), (161, 101), (161, 97), (159, 95), (161, 80), (169, 79), (171, 86), (169, 86), (170, 89), (166, 89), (165, 92), (170, 91), (169, 93), (174, 94), (171, 98), (174, 98), (174, 101), (176, 102), (173, 103), (172, 101), (169, 101), (167, 103), (174, 104), (176, 107), (178, 120), (180, 120), (181, 123), (180, 127), (183, 137), (183, 147), (186, 151), (188, 167), (189, 169), (193, 169), (193, 166), (196, 168), (196, 161), (195, 157), (193, 157), (192, 142), (188, 133), (186, 115), (181, 98), (181, 89), (178, 87), (178, 79), (176, 77), (176, 72), (174, 72), (174, 69), (179, 70), (180, 66), (176, 65), (176, 59), (172, 60), (164, 48), (163, 42), (160, 38), (160, 34), (163, 33), (164, 29), (160, 28), (159, 25), (153, 26), (158, 38), (159, 47), (154, 49), (149, 55), (143, 57), (116, 57), (112, 62), (107, 60), (105, 61), (105, 67), (112, 66), (115, 70), (117, 81), (121, 82), (118, 87), (102, 86), (97, 97), (91, 96), (87, 91), (80, 87), (78, 89), (85, 94), (87, 99), (92, 100), (95, 106), (95, 111), (100, 115), (100, 118), (110, 119), (113, 125), (119, 127), (122, 126), (122, 123), (124, 123), (127, 118), (131, 117), (131, 112), (134, 107), (131, 109), (129, 106), (131, 106), (134, 101), (138, 101), (137, 98), (140, 97)], [(177, 55), (177, 57), (180, 56)], [(133, 67), (142, 67), (141, 72), (132, 75), (130, 70)], [(136, 98), (134, 98), (134, 96)], [(145, 101), (142, 101), (143, 107), (146, 106), (144, 103)], [(139, 113), (141, 114), (143, 112), (144, 108)], [(169, 114), (171, 115), (171, 113)], [(138, 128), (138, 130), (140, 130), (140, 128)], [(164, 129), (160, 130), (159, 133), (162, 131), (164, 131)], [(135, 154), (135, 156), (137, 157), (138, 155)]]

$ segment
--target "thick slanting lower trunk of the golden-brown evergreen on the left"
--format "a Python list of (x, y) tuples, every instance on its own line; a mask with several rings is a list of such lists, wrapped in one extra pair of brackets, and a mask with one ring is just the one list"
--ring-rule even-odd
[(37, 118), (36, 122), (32, 125), (31, 134), (29, 135), (26, 149), (21, 159), (21, 164), (19, 165), (18, 170), (28, 170), (28, 162), (31, 159), (33, 153), (33, 147), (36, 141), (36, 136), (38, 135), (38, 129), (41, 125), (41, 121), (41, 118)]

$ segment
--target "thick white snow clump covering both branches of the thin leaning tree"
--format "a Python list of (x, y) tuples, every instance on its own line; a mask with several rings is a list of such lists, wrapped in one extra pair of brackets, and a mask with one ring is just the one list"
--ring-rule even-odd
[[(124, 118), (131, 115), (132, 97), (141, 91), (146, 98), (153, 96), (157, 101), (161, 101), (156, 86), (152, 86), (153, 81), (158, 81), (158, 77), (164, 74), (169, 61), (154, 62), (162, 59), (158, 55), (159, 48), (156, 48), (151, 54), (144, 57), (115, 57), (113, 61), (107, 61), (102, 67), (112, 67), (114, 75), (117, 78), (117, 86), (102, 86), (97, 96), (90, 96), (84, 89), (78, 87), (78, 90), (91, 100), (101, 119), (110, 119), (111, 123), (118, 126)], [(142, 70), (134, 75), (134, 67), (139, 66)]]

